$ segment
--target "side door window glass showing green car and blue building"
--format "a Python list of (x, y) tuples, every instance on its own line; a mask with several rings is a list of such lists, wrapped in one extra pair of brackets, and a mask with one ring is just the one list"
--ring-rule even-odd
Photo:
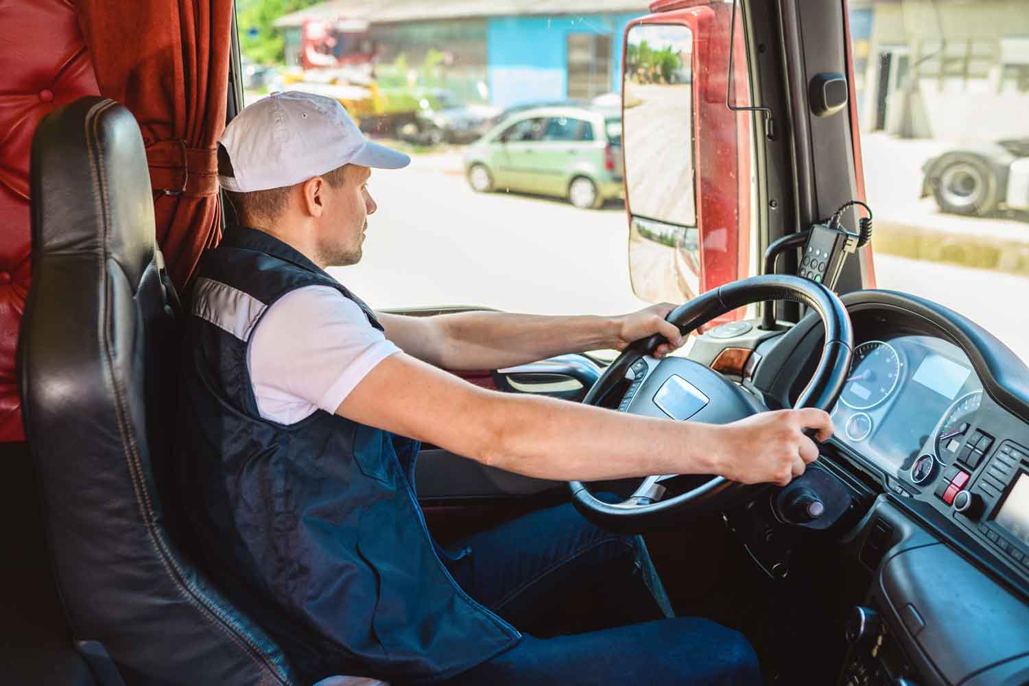
[[(430, 1), (271, 11), (284, 4), (239, 4), (243, 53), (269, 68), (246, 84), (247, 102), (279, 89), (329, 95), (368, 136), (412, 155), (407, 169), (372, 173), (379, 207), (361, 261), (329, 269), (348, 288), (376, 309), (401, 310), (612, 315), (654, 299), (638, 297), (630, 280), (622, 156), (623, 45), (648, 0), (587, 13), (549, 1), (460, 3), (459, 16), (443, 17)], [(715, 4), (728, 29), (728, 5)], [(329, 9), (339, 15), (326, 17)], [(363, 64), (306, 66), (310, 15), (365, 23), (374, 50)], [(661, 74), (676, 87), (687, 76), (681, 66)], [(448, 107), (460, 116), (442, 116)], [(716, 238), (712, 250), (736, 245)], [(696, 293), (697, 237), (678, 256), (675, 241), (646, 243), (664, 263), (653, 293), (682, 292), (666, 281)]]

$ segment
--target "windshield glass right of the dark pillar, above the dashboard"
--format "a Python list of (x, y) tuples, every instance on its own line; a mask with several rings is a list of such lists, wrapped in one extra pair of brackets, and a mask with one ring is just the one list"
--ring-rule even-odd
[(1026, 3), (851, 2), (850, 32), (877, 285), (1029, 361)]

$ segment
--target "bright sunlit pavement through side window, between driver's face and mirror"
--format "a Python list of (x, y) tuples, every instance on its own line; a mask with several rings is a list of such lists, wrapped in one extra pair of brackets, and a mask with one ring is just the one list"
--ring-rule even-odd
[(477, 194), (453, 165), (416, 158), (368, 188), (364, 259), (334, 276), (376, 308), (476, 304), (537, 314), (618, 314), (643, 304), (629, 283), (620, 205)]

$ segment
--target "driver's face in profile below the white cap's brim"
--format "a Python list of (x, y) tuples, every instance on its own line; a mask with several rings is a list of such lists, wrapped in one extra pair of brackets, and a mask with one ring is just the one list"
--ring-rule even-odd
[(351, 165), (344, 174), (344, 183), (335, 188), (325, 184), (329, 202), (322, 217), (319, 252), (327, 266), (356, 264), (361, 259), (361, 244), (368, 227), (368, 215), (375, 214), (376, 202), (368, 193), (371, 170)]

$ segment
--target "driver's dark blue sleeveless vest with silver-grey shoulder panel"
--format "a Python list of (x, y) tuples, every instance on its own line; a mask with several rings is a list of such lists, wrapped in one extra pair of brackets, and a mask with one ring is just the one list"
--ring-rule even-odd
[(177, 465), (201, 555), (306, 679), (453, 676), (520, 635), (437, 556), (415, 497), (418, 443), (322, 410), (291, 426), (257, 411), (251, 334), (273, 302), (310, 285), (339, 289), (382, 328), (360, 299), (263, 231), (230, 229), (201, 259)]

